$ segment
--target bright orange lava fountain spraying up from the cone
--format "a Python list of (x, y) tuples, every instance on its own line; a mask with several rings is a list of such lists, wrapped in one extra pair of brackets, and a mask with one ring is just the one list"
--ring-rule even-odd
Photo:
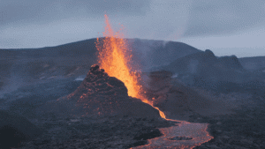
[(115, 77), (125, 83), (128, 89), (128, 95), (140, 98), (141, 86), (138, 85), (138, 77), (133, 72), (132, 66), (129, 64), (132, 55), (127, 48), (122, 34), (114, 33), (110, 26), (109, 18), (105, 15), (105, 36), (102, 39), (103, 45), (100, 45), (97, 39), (96, 48), (99, 51), (100, 67), (104, 69), (110, 77)]

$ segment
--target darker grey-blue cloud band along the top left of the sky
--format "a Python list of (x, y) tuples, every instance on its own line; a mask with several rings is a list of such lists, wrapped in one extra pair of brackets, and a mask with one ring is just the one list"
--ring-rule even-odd
[(0, 26), (49, 23), (60, 19), (98, 18), (104, 13), (144, 15), (149, 0), (11, 0), (0, 1)]

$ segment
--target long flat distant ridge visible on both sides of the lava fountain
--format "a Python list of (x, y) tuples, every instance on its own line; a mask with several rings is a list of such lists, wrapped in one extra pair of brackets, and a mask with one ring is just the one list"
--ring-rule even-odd
[[(148, 58), (158, 62), (169, 63), (178, 57), (186, 56), (201, 50), (193, 48), (185, 43), (177, 41), (153, 41), (140, 39), (126, 39), (129, 48), (133, 51), (133, 56), (137, 54), (148, 54)], [(96, 39), (89, 39), (85, 41), (76, 41), (59, 45), (56, 47), (44, 48), (11, 48), (0, 49), (0, 60), (16, 59), (16, 58), (40, 58), (45, 56), (95, 56)], [(157, 62), (158, 61), (158, 62)]]

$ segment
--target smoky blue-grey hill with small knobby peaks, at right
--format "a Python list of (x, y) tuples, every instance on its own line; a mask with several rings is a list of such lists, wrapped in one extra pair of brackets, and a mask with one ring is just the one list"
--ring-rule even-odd
[(170, 71), (187, 85), (211, 89), (221, 85), (221, 82), (242, 83), (251, 79), (250, 72), (242, 67), (236, 56), (216, 57), (208, 49), (178, 58), (156, 70)]

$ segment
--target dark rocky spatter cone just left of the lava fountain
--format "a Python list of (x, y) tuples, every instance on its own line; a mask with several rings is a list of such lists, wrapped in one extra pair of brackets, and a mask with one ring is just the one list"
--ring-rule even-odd
[(125, 84), (110, 77), (98, 65), (91, 67), (79, 88), (68, 98), (78, 99), (86, 114), (159, 117), (157, 110), (128, 96)]

